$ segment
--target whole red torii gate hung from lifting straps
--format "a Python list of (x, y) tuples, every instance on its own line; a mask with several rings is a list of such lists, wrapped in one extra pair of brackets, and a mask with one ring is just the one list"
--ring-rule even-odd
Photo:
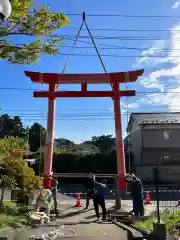
[[(122, 136), (122, 120), (120, 97), (135, 96), (134, 90), (120, 90), (120, 83), (135, 82), (144, 70), (117, 73), (92, 73), (92, 74), (60, 74), (60, 73), (41, 73), (25, 71), (25, 75), (31, 78), (34, 83), (48, 84), (48, 91), (35, 91), (33, 96), (37, 98), (48, 98), (48, 120), (47, 136), (44, 151), (44, 187), (49, 188), (52, 176), (52, 157), (54, 143), (54, 120), (55, 120), (55, 100), (64, 97), (111, 97), (114, 102), (115, 117), (115, 136), (117, 151), (117, 190), (124, 191), (125, 161), (124, 146)], [(112, 91), (88, 91), (88, 84), (105, 84), (112, 86)], [(56, 91), (59, 84), (81, 84), (81, 91)]]

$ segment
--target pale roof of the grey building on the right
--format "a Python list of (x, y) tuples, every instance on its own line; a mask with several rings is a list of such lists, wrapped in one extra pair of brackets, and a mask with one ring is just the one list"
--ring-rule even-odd
[(134, 121), (180, 121), (180, 112), (146, 112), (146, 113), (132, 113), (129, 118), (127, 132), (131, 132)]

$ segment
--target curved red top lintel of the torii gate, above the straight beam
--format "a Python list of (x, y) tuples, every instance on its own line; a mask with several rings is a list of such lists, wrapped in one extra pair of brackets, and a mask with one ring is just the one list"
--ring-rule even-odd
[(113, 73), (42, 73), (25, 71), (25, 75), (34, 83), (44, 84), (101, 84), (101, 83), (126, 83), (135, 82), (144, 70), (113, 72)]

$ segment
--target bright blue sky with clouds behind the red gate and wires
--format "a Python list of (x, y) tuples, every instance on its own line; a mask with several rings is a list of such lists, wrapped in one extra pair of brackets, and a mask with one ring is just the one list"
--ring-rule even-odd
[[(129, 56), (126, 58), (103, 57), (108, 72), (128, 71), (144, 68), (145, 73), (141, 79), (134, 84), (129, 84), (128, 89), (135, 89), (136, 97), (121, 99), (123, 112), (124, 135), (128, 113), (144, 111), (179, 111), (179, 73), (180, 58), (180, 3), (178, 1), (165, 0), (44, 0), (38, 4), (50, 5), (52, 11), (63, 11), (65, 13), (87, 14), (121, 14), (121, 15), (143, 15), (143, 16), (173, 16), (172, 18), (136, 18), (136, 17), (92, 17), (87, 16), (87, 24), (90, 29), (118, 29), (122, 31), (100, 31), (92, 30), (94, 36), (105, 37), (130, 37), (130, 40), (122, 39), (100, 39), (99, 44), (111, 46), (137, 48), (136, 50), (124, 49), (100, 49), (101, 54)], [(180, 14), (179, 14), (180, 16)], [(60, 35), (75, 35), (81, 24), (81, 16), (69, 16), (70, 25), (56, 31)], [(166, 29), (166, 31), (146, 31), (148, 29)], [(168, 31), (168, 29), (171, 29)], [(126, 31), (125, 31), (126, 30)], [(133, 30), (133, 31), (127, 31)], [(137, 31), (139, 30), (139, 31)], [(143, 30), (143, 31), (141, 31)], [(82, 31), (81, 36), (88, 36), (87, 31)], [(144, 38), (134, 40), (132, 38)], [(152, 40), (151, 40), (152, 39)], [(156, 40), (153, 40), (156, 39)], [(12, 41), (31, 41), (30, 37), (13, 37)], [(84, 39), (80, 39), (84, 40)], [(89, 41), (85, 39), (84, 41)], [(71, 46), (73, 41), (64, 40), (61, 45)], [(91, 46), (78, 42), (77, 47)], [(143, 48), (144, 50), (141, 50)], [(162, 49), (168, 49), (164, 51)], [(62, 53), (68, 53), (70, 48), (61, 48)], [(75, 49), (74, 53), (95, 54), (94, 49)], [(138, 57), (136, 57), (138, 56)], [(58, 57), (42, 56), (38, 63), (26, 66), (13, 65), (7, 61), (0, 61), (1, 88), (39, 88), (25, 77), (24, 70), (42, 72), (61, 72), (67, 56)], [(72, 56), (67, 73), (103, 72), (97, 57)], [(125, 86), (122, 86), (124, 88)], [(91, 90), (109, 89), (109, 86), (90, 86)], [(61, 86), (61, 89), (77, 90), (75, 86)], [(42, 116), (47, 112), (47, 100), (35, 99), (32, 91), (0, 90), (2, 113), (10, 115), (21, 115), (24, 124), (32, 124), (35, 120), (46, 125)], [(168, 91), (167, 94), (163, 93)], [(140, 93), (143, 92), (143, 93)], [(161, 93), (156, 93), (161, 92)], [(179, 106), (178, 106), (179, 104)], [(128, 107), (127, 107), (128, 106)], [(111, 99), (58, 99), (56, 111), (55, 136), (67, 137), (75, 142), (87, 140), (93, 135), (114, 135), (113, 104)], [(98, 116), (99, 115), (99, 116)], [(88, 118), (89, 117), (89, 118)], [(86, 120), (85, 120), (86, 118)], [(63, 120), (64, 119), (64, 120)]]

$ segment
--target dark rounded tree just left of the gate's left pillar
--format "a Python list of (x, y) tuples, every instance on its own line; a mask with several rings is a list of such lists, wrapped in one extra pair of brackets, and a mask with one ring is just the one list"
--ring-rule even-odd
[(46, 129), (39, 123), (34, 123), (29, 129), (29, 145), (32, 152), (36, 152), (45, 145)]

